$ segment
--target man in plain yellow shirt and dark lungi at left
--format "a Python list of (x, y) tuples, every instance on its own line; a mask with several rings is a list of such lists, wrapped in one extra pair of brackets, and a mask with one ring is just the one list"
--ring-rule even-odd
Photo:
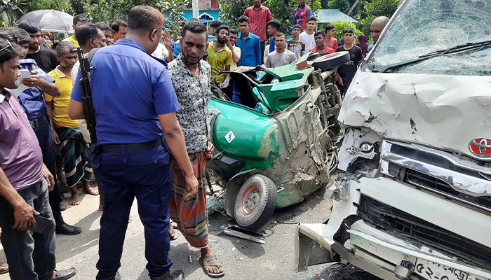
[[(56, 58), (60, 65), (48, 75), (55, 79), (56, 85), (60, 88), (59, 97), (44, 95), (48, 116), (53, 127), (53, 138), (55, 144), (61, 149), (63, 160), (65, 160), (65, 177), (67, 185), (72, 190), (72, 200), (70, 205), (79, 205), (79, 190), (76, 185), (83, 180), (83, 190), (90, 195), (98, 195), (97, 190), (90, 186), (92, 176), (92, 160), (88, 143), (83, 140), (79, 129), (79, 121), (72, 120), (68, 116), (68, 104), (70, 93), (72, 92), (72, 68), (78, 57), (70, 50), (75, 48), (71, 42), (60, 42), (56, 46)], [(51, 108), (53, 105), (54, 110)]]

